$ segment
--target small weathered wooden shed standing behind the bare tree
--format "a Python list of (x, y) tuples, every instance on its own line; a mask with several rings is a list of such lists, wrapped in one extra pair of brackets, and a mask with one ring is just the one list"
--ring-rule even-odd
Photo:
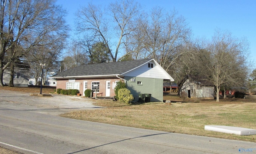
[(214, 99), (215, 95), (213, 83), (191, 77), (182, 85), (181, 91), (185, 92), (188, 98)]

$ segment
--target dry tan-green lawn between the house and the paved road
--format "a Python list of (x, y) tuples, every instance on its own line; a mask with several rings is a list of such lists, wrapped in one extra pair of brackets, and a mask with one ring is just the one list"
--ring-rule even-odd
[[(181, 101), (175, 95), (166, 95), (164, 99)], [(214, 100), (196, 102), (196, 99), (187, 99), (187, 102), (182, 104), (158, 102), (126, 105), (118, 101), (95, 100), (95, 105), (107, 108), (74, 111), (62, 116), (136, 128), (256, 142), (256, 135), (240, 136), (204, 130), (204, 125), (256, 129), (255, 95), (249, 95), (246, 99), (221, 99), (220, 103)]]

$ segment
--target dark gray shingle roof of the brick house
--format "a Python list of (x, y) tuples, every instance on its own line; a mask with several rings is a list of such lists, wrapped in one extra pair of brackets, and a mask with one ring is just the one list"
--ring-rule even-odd
[(130, 71), (152, 59), (118, 61), (112, 63), (98, 63), (80, 65), (66, 71), (63, 71), (52, 77), (75, 77), (75, 76), (92, 76), (92, 75), (119, 75)]

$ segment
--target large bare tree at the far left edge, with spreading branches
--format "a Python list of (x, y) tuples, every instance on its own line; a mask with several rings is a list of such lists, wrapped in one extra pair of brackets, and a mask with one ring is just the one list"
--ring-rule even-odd
[[(3, 72), (12, 61), (3, 65), (6, 52), (13, 49), (12, 59), (22, 57), (36, 46), (50, 46), (63, 41), (67, 26), (66, 12), (54, 0), (1, 0), (0, 7), (0, 86)], [(56, 37), (58, 36), (58, 38)], [(46, 41), (50, 40), (50, 41)], [(17, 47), (24, 52), (17, 54)]]

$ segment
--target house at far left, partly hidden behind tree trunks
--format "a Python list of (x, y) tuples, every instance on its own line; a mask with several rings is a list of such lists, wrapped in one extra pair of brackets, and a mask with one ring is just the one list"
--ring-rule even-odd
[[(4, 69), (3, 83), (9, 85), (10, 83), (10, 67)], [(16, 62), (14, 66), (14, 87), (28, 87), (28, 77), (30, 75), (30, 65), (27, 62)]]

